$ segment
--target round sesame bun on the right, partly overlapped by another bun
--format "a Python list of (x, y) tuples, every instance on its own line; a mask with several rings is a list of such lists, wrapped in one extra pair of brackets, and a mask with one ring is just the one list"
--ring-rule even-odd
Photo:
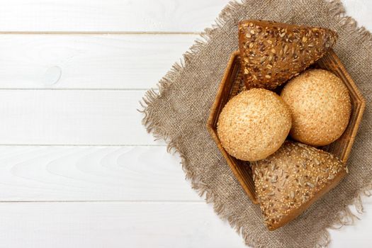
[(305, 144), (329, 145), (349, 123), (349, 91), (332, 72), (308, 69), (284, 86), (281, 97), (291, 109), (291, 137)]

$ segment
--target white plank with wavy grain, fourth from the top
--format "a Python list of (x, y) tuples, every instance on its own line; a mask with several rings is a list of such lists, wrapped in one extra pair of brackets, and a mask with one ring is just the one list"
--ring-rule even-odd
[(0, 147), (0, 201), (203, 201), (180, 162), (166, 147)]

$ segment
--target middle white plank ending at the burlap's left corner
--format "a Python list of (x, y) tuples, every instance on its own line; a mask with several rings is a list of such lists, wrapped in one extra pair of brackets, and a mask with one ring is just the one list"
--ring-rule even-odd
[(164, 145), (141, 124), (145, 91), (0, 90), (6, 145)]

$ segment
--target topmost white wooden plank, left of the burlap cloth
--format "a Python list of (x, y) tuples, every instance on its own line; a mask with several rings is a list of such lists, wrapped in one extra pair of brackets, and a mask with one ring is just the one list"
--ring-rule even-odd
[(1, 32), (200, 32), (229, 0), (13, 0), (0, 9)]

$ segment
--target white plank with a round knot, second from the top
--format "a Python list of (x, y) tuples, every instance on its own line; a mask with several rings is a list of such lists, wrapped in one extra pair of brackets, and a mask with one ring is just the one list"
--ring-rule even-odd
[(0, 35), (0, 89), (149, 89), (196, 37)]

